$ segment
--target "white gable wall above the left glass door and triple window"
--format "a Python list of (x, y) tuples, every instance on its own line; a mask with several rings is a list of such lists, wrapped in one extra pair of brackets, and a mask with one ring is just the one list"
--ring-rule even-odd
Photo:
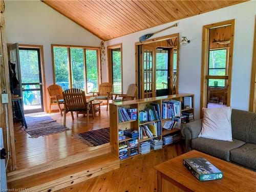
[(47, 87), (53, 83), (51, 44), (100, 47), (100, 38), (40, 1), (5, 5), (7, 42), (44, 46)]

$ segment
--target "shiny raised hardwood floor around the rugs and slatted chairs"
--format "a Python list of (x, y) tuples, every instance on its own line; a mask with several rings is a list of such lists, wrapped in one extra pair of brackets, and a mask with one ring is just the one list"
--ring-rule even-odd
[[(50, 115), (58, 123), (63, 124), (63, 117), (59, 113), (52, 113)], [(87, 125), (86, 119), (82, 115), (79, 115), (78, 118), (75, 115), (75, 120), (72, 121), (69, 113), (67, 114), (66, 126), (71, 129), (70, 131), (38, 138), (31, 138), (23, 130), (23, 127), (20, 126), (20, 123), (15, 123), (14, 136), (16, 139), (17, 169), (47, 163), (109, 145), (89, 147), (77, 139), (72, 138), (74, 134), (109, 127), (109, 113), (106, 112), (106, 105), (101, 106), (101, 114), (97, 113), (94, 120), (90, 116), (89, 125)]]

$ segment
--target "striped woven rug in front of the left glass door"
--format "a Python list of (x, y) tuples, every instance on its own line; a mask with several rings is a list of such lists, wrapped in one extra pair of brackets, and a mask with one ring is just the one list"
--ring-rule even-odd
[(25, 117), (28, 129), (24, 129), (32, 138), (51, 135), (70, 130), (52, 119), (49, 115), (35, 115)]

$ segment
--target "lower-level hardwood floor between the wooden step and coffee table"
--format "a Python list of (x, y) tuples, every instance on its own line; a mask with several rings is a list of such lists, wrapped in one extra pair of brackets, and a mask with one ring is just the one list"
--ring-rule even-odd
[(157, 191), (157, 172), (154, 166), (184, 153), (184, 144), (164, 147), (162, 150), (134, 159), (121, 161), (119, 169), (58, 190), (86, 192), (150, 192)]

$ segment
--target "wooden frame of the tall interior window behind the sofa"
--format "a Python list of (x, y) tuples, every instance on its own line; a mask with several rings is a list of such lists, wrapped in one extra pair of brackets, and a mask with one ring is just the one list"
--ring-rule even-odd
[[(233, 45), (234, 45), (234, 19), (225, 20), (224, 22), (218, 22), (215, 24), (209, 24), (203, 26), (203, 40), (202, 40), (202, 58), (201, 58), (201, 96), (200, 96), (200, 117), (203, 117), (203, 108), (207, 107), (207, 80), (206, 76), (208, 75), (208, 58), (209, 58), (209, 32), (212, 28), (222, 27), (226, 25), (231, 25), (231, 34), (230, 34), (230, 47), (229, 47), (229, 62), (228, 62), (228, 76), (224, 79), (228, 79), (227, 89), (228, 89), (228, 98), (227, 106), (230, 106), (231, 98), (231, 82), (232, 82), (232, 63), (233, 63)], [(219, 77), (218, 79), (221, 79)], [(214, 77), (212, 77), (214, 78)], [(222, 78), (222, 79), (223, 79)]]

